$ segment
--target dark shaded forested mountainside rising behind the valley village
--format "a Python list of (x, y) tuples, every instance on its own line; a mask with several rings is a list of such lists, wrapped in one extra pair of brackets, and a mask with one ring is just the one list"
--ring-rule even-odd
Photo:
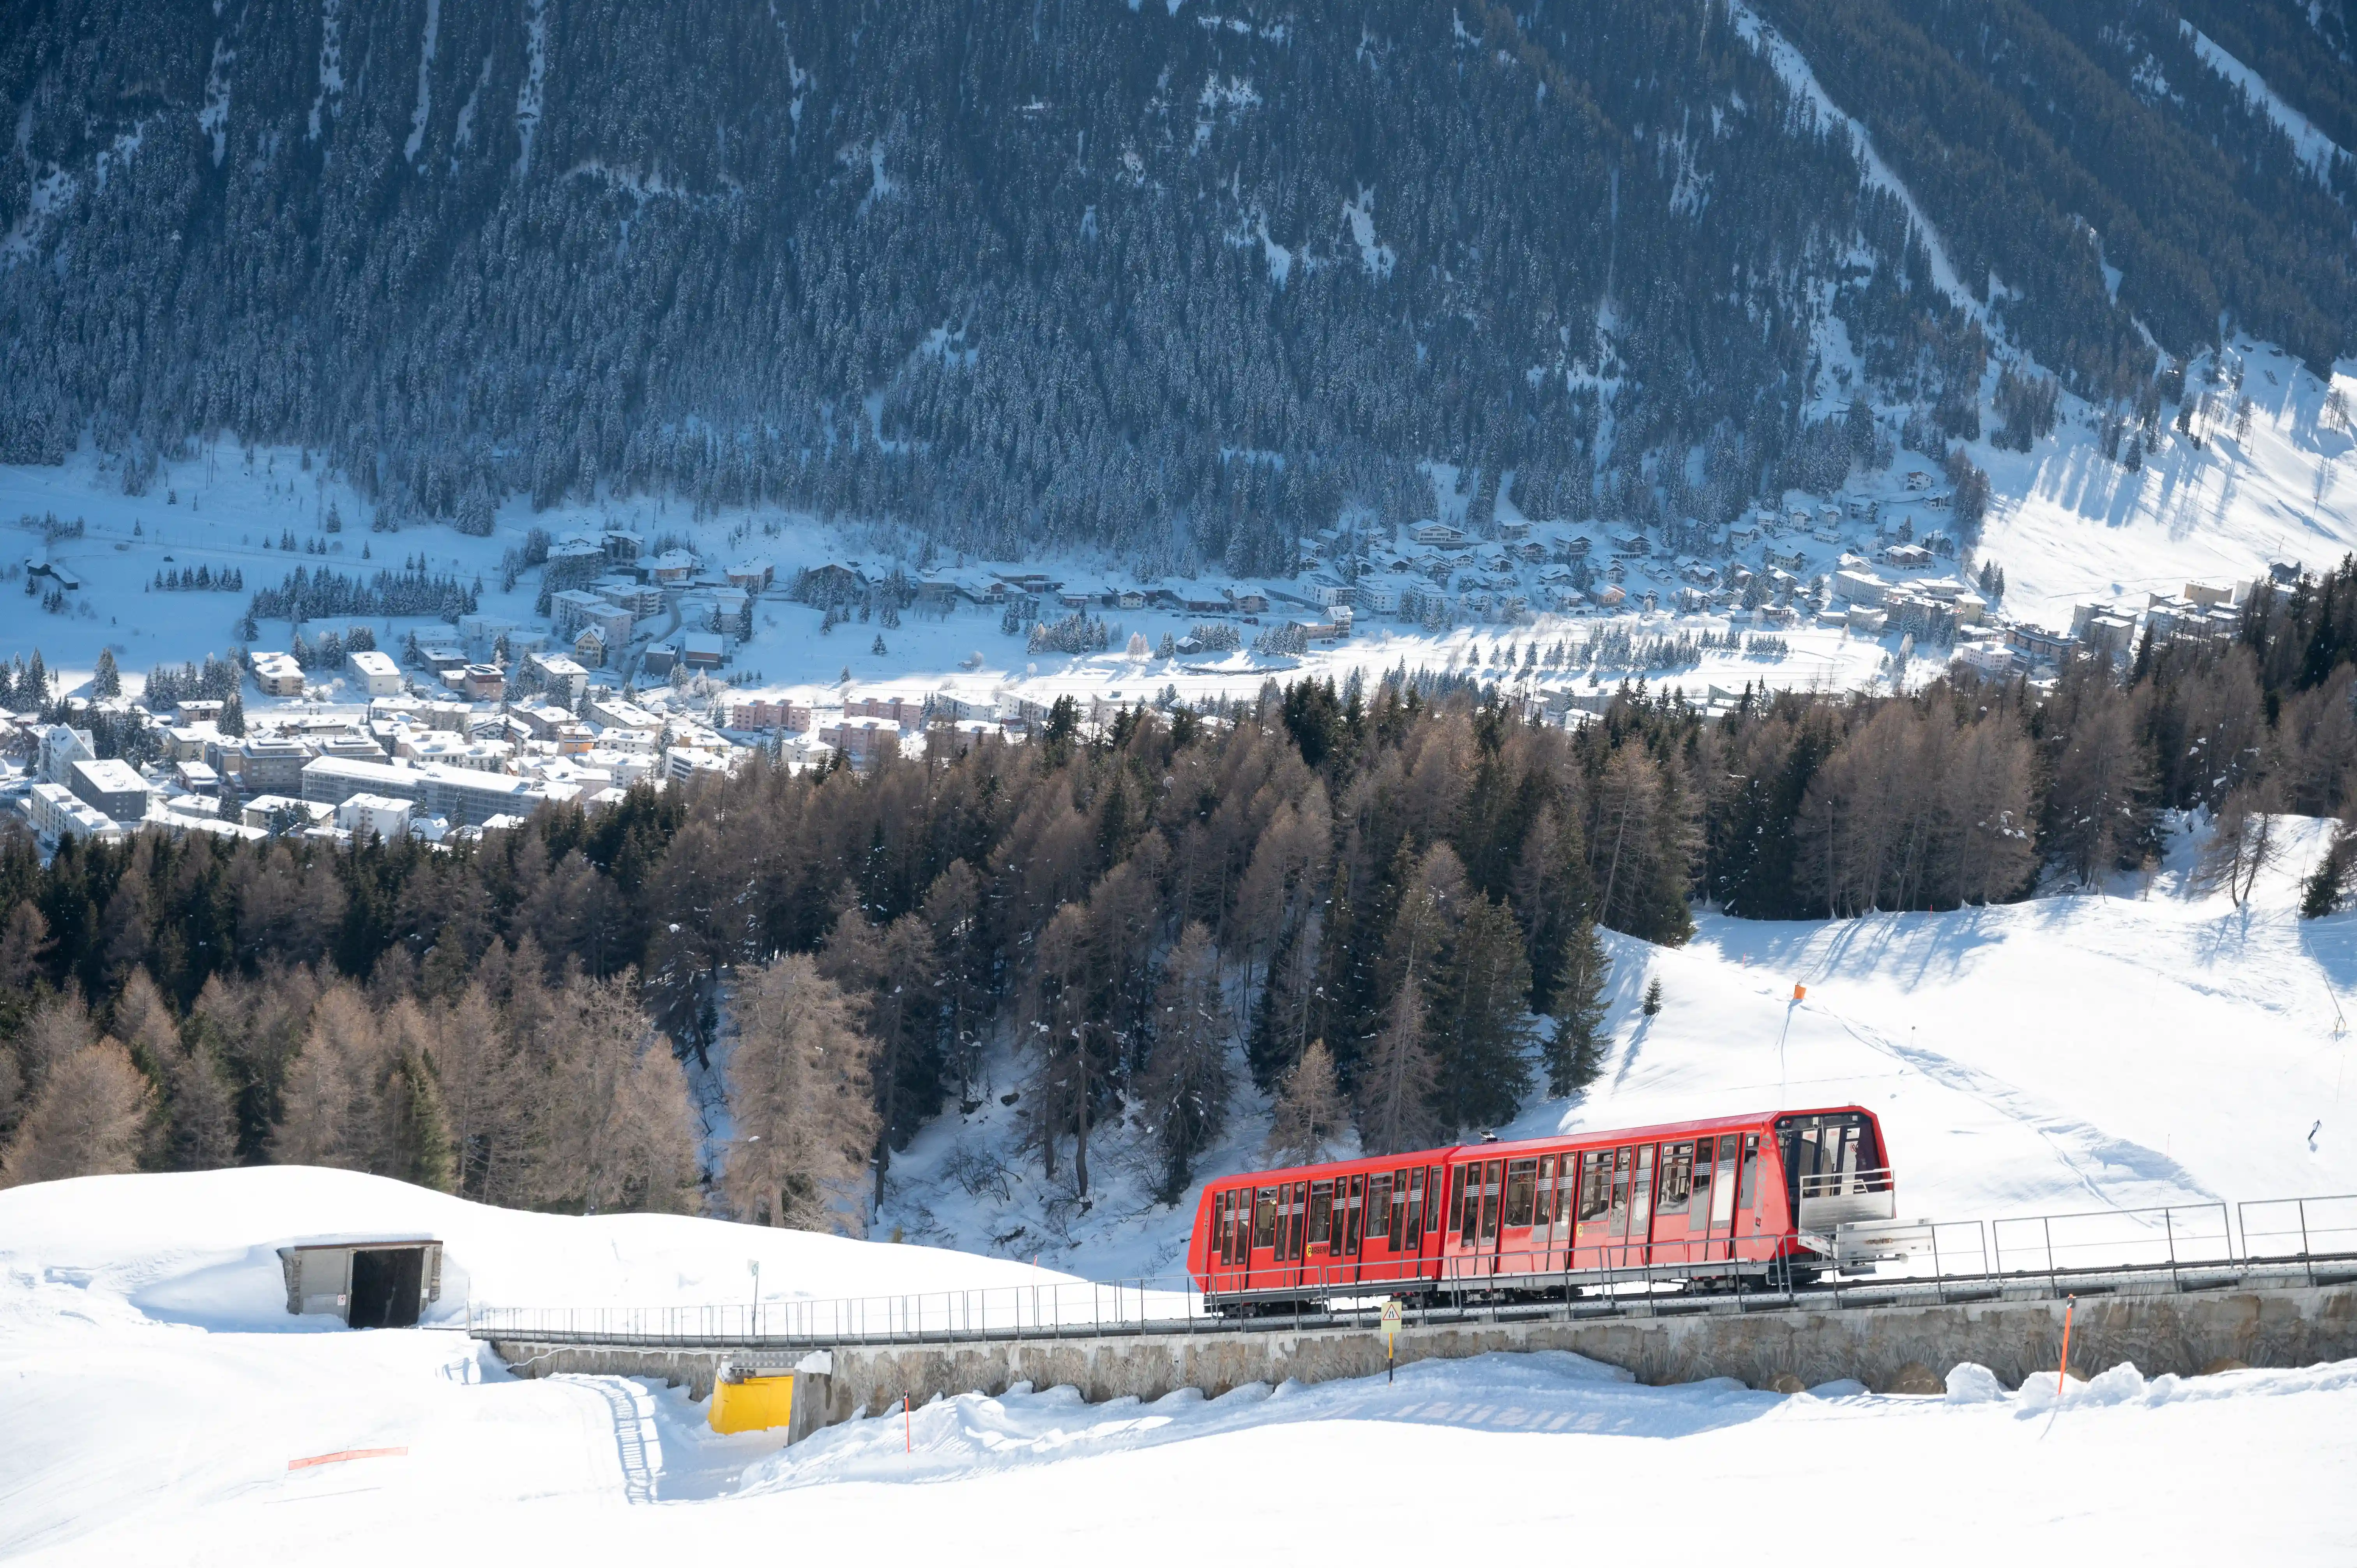
[(2180, 19), (2357, 141), (2345, 2), (9, 0), (0, 460), (1228, 571), (1431, 460), (1716, 523), (1853, 398), (1978, 436), (1992, 330), (2114, 415), (2230, 328), (2357, 351), (2350, 165)]

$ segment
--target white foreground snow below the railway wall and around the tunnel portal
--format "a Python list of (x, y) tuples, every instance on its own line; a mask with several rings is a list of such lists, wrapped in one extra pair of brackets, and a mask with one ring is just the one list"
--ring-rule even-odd
[(1610, 1551), (1657, 1544), (1664, 1514), (1704, 1493), (1702, 1533), (1747, 1537), (1829, 1471), (1846, 1500), (1879, 1500), (1876, 1544), (1919, 1563), (2032, 1535), (2157, 1561), (2357, 1547), (2357, 1363), (2150, 1382), (2107, 1368), (2055, 1410), (2051, 1382), (2006, 1391), (1973, 1365), (1949, 1370), (1945, 1398), (1777, 1398), (1485, 1356), (1409, 1365), (1393, 1386), (1153, 1405), (1018, 1384), (780, 1450), (773, 1434), (712, 1436), (681, 1389), (516, 1379), (448, 1327), (297, 1323), (264, 1302), (269, 1247), (323, 1231), (434, 1233), (478, 1290), (580, 1302), (698, 1292), (747, 1254), (797, 1290), (992, 1271), (721, 1221), (509, 1214), (321, 1170), (7, 1191), (0, 1559), (1200, 1563), (1207, 1542), (1306, 1530), (1336, 1559), (1438, 1556), (1468, 1526), (1501, 1547)]

